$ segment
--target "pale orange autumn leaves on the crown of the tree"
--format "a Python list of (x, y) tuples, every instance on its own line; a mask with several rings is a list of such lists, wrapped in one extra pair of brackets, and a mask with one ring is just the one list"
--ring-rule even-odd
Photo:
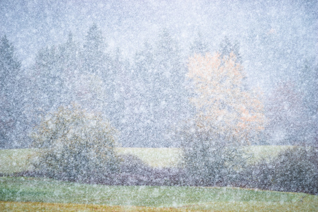
[(264, 129), (263, 104), (254, 92), (244, 89), (245, 77), (236, 56), (219, 53), (189, 58), (186, 76), (193, 80), (195, 123), (201, 130), (227, 141), (248, 144)]

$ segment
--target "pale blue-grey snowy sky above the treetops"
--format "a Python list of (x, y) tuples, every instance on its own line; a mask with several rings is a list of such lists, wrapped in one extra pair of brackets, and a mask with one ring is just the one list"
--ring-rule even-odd
[(317, 11), (316, 0), (1, 0), (0, 35), (8, 36), (24, 67), (38, 49), (65, 42), (70, 31), (82, 42), (94, 22), (108, 48), (119, 47), (128, 59), (163, 28), (174, 35), (185, 58), (197, 32), (211, 51), (228, 36), (240, 44), (249, 79), (266, 86), (296, 72), (305, 59), (317, 61)]

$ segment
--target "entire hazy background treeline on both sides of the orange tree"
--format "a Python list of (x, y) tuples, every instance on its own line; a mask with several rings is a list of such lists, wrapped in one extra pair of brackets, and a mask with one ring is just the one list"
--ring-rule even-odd
[[(123, 146), (179, 146), (175, 127), (195, 114), (189, 104), (193, 86), (185, 77), (188, 56), (231, 52), (242, 64), (239, 44), (227, 37), (212, 51), (200, 33), (187, 53), (163, 29), (154, 43), (145, 42), (133, 58), (107, 41), (92, 25), (83, 43), (72, 33), (65, 43), (42, 48), (33, 65), (21, 69), (13, 45), (1, 38), (1, 147), (27, 147), (29, 133), (49, 111), (72, 102), (99, 111), (121, 132)], [(265, 92), (265, 130), (252, 143), (318, 143), (318, 74), (314, 61), (299, 68), (298, 78), (282, 80)], [(248, 89), (246, 79), (243, 86)], [(172, 134), (172, 137), (171, 137)]]

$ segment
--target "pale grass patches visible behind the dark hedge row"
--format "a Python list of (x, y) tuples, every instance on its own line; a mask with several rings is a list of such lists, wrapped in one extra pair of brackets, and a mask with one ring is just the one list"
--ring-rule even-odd
[[(261, 158), (272, 158), (280, 151), (293, 146), (246, 146), (244, 151), (251, 155), (250, 162)], [(0, 149), (0, 173), (10, 174), (32, 169), (30, 159), (36, 155), (38, 149)], [(182, 150), (180, 148), (133, 148), (118, 147), (119, 154), (132, 154), (153, 167), (174, 167), (180, 162)]]

